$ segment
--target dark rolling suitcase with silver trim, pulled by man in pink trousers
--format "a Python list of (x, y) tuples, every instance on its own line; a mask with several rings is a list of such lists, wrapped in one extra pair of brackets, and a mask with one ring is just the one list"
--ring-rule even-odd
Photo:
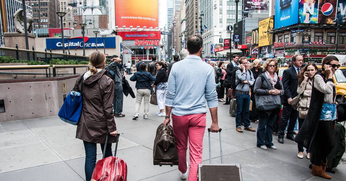
[(222, 156), (221, 144), (221, 129), (220, 133), (220, 152), (221, 164), (211, 163), (211, 148), (210, 148), (210, 128), (209, 134), (209, 164), (198, 164), (197, 180), (198, 181), (215, 181), (215, 180), (228, 180), (228, 181), (242, 181), (242, 172), (240, 164), (224, 164)]

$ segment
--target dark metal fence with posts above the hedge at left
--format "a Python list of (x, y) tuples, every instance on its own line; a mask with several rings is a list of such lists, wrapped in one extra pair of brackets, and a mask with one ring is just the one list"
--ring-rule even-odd
[(75, 61), (89, 61), (89, 57), (86, 56), (77, 56), (64, 53), (52, 53), (52, 50), (47, 52), (45, 51), (36, 51), (34, 50), (25, 50), (18, 49), (18, 44), (16, 44), (16, 48), (7, 48), (0, 47), (0, 56), (12, 57), (17, 60), (27, 60), (27, 61), (40, 61), (49, 63), (52, 59), (62, 59), (62, 60), (75, 60)]

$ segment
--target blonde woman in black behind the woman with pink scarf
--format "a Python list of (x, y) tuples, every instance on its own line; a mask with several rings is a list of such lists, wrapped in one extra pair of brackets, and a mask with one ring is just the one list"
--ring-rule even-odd
[[(260, 75), (261, 73), (263, 73), (263, 69), (261, 68), (262, 66), (262, 59), (255, 59), (252, 64), (251, 64), (251, 72), (254, 75), (254, 79), (256, 80), (258, 75)], [(256, 100), (255, 100), (255, 93), (254, 93), (254, 87), (255, 84), (253, 86), (251, 86), (251, 97), (250, 99), (252, 100), (252, 111), (250, 111), (250, 120), (252, 122), (257, 123), (258, 120), (258, 115), (257, 115), (257, 109), (256, 109)]]

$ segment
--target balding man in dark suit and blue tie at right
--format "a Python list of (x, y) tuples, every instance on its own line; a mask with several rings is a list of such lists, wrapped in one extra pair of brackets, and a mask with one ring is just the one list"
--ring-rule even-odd
[(285, 90), (282, 96), (282, 114), (279, 123), (279, 135), (278, 142), (283, 143), (283, 137), (285, 136), (285, 129), (287, 127), (287, 122), (290, 120), (286, 138), (294, 141), (293, 129), (295, 122), (297, 122), (298, 111), (294, 110), (291, 106), (291, 101), (294, 97), (298, 95), (298, 75), (300, 73), (301, 66), (303, 64), (303, 56), (301, 54), (292, 57), (292, 66), (283, 71), (282, 84)]

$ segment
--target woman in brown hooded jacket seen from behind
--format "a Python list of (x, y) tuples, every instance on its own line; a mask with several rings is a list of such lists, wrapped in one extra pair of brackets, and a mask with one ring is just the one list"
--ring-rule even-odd
[[(74, 91), (81, 92), (83, 109), (77, 125), (76, 138), (83, 140), (85, 148), (85, 180), (91, 180), (96, 164), (96, 144), (101, 144), (106, 157), (112, 155), (112, 143), (116, 142), (117, 127), (113, 113), (114, 82), (106, 75), (106, 56), (100, 51), (91, 53), (90, 70), (76, 81)], [(120, 60), (120, 59), (119, 59)], [(79, 81), (80, 78), (83, 80)], [(107, 149), (104, 149), (107, 132)]]

